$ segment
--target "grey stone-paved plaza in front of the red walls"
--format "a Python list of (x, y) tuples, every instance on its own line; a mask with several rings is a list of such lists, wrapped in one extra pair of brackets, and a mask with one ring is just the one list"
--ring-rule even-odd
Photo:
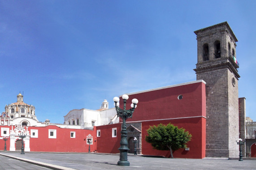
[[(55, 170), (256, 170), (255, 160), (238, 161), (237, 159), (170, 159), (129, 155), (128, 161), (130, 161), (130, 166), (117, 166), (119, 154), (28, 152), (22, 155), (18, 152), (7, 151), (0, 152), (1, 162), (3, 162), (3, 156), (5, 156), (3, 161), (7, 164), (5, 166), (7, 169), (1, 167), (1, 170), (13, 169), (11, 162), (17, 161), (15, 159), (23, 159), (23, 161), (30, 162), (31, 164), (41, 165)], [(31, 164), (30, 166), (35, 166)], [(33, 170), (40, 169), (40, 167), (26, 168), (25, 166), (22, 169)]]

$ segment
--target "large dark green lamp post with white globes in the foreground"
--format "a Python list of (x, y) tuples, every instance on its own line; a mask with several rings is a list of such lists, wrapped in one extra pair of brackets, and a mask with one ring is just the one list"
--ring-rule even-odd
[(138, 103), (138, 100), (136, 98), (132, 99), (131, 109), (126, 110), (126, 100), (129, 98), (127, 94), (122, 95), (122, 98), (124, 100), (124, 109), (122, 110), (119, 107), (119, 98), (114, 97), (113, 101), (115, 102), (115, 107), (117, 110), (117, 116), (120, 117), (123, 120), (122, 123), (122, 129), (121, 129), (121, 141), (120, 141), (120, 159), (117, 162), (118, 166), (130, 166), (130, 162), (128, 161), (127, 154), (130, 150), (128, 146), (127, 141), (127, 130), (126, 130), (126, 119), (131, 118), (132, 114), (135, 110), (136, 104)]

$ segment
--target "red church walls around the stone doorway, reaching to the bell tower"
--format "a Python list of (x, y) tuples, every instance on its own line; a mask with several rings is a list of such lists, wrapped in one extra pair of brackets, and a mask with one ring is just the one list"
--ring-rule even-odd
[[(182, 95), (183, 98), (178, 100), (178, 95)], [(205, 157), (206, 96), (205, 84), (203, 82), (131, 94), (126, 103), (126, 109), (130, 109), (131, 100), (133, 98), (139, 100), (138, 107), (135, 109), (132, 119), (127, 119), (126, 121), (142, 122), (143, 154), (170, 156), (169, 151), (153, 149), (151, 144), (145, 141), (145, 136), (147, 135), (146, 130), (149, 126), (158, 125), (160, 123), (173, 123), (175, 126), (185, 128), (186, 131), (192, 134), (192, 140), (187, 144), (190, 151), (179, 149), (174, 152), (174, 157)], [(121, 97), (120, 101), (120, 107), (123, 108)], [(120, 122), (121, 121), (120, 119)], [(113, 127), (117, 127), (118, 129), (117, 138), (112, 138)], [(121, 124), (105, 125), (96, 128), (97, 130), (101, 130), (101, 136), (97, 138), (97, 150), (100, 153), (119, 153)]]

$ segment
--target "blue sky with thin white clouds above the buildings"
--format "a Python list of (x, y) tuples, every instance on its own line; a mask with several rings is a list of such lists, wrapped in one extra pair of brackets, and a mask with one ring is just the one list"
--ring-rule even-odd
[[(0, 0), (0, 112), (39, 121), (99, 109), (124, 93), (195, 81), (195, 30), (227, 21), (238, 38), (239, 97), (256, 121), (255, 0)], [(138, 103), (139, 105), (139, 103)]]

